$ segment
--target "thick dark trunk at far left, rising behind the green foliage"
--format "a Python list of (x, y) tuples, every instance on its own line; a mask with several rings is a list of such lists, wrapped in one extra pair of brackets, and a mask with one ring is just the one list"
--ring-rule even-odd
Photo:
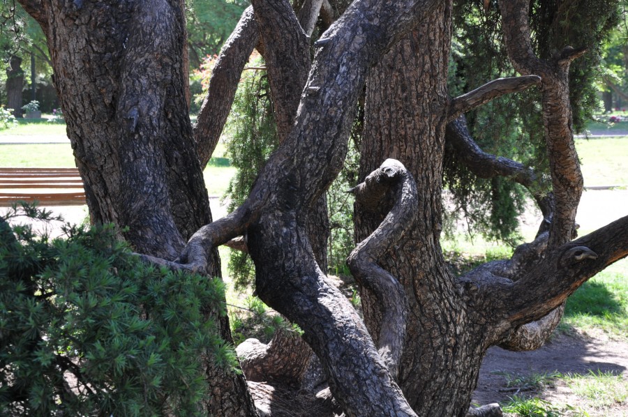
[[(92, 222), (114, 222), (138, 252), (174, 259), (211, 222), (186, 103), (185, 18), (179, 0), (36, 8)], [(124, 230), (123, 228), (127, 229)], [(220, 276), (216, 250), (209, 257)], [(211, 314), (208, 312), (208, 314)], [(231, 341), (226, 317), (219, 333)], [(253, 416), (241, 375), (207, 360), (209, 415)]]

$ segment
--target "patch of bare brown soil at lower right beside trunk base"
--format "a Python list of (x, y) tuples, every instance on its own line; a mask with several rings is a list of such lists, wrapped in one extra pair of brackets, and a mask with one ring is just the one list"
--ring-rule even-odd
[(556, 335), (544, 347), (536, 351), (511, 352), (499, 347), (491, 347), (484, 358), (472, 402), (489, 404), (507, 402), (509, 397), (514, 395), (535, 396), (552, 404), (569, 404), (577, 410), (574, 411), (574, 415), (582, 415), (582, 411), (586, 411), (590, 416), (626, 417), (628, 416), (628, 402), (596, 408), (595, 404), (591, 404), (586, 398), (576, 395), (562, 379), (556, 380), (537, 392), (517, 393), (516, 389), (507, 388), (507, 379), (504, 374), (510, 374), (513, 377), (548, 372), (587, 375), (598, 371), (621, 375), (622, 383), (626, 386), (628, 384), (628, 343), (605, 339), (601, 336), (591, 338), (574, 332), (572, 335)]

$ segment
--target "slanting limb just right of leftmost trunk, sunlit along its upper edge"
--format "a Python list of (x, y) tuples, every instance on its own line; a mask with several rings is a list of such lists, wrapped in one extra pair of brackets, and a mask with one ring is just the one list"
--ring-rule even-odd
[(211, 71), (207, 96), (203, 100), (194, 127), (194, 139), (201, 167), (207, 165), (216, 149), (233, 104), (240, 75), (259, 39), (253, 7), (249, 6), (220, 50), (218, 61)]

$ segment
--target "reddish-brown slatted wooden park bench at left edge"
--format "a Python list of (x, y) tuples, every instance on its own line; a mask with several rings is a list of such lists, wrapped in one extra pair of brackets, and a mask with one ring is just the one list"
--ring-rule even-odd
[(39, 206), (85, 204), (76, 168), (0, 168), (0, 207), (25, 201)]

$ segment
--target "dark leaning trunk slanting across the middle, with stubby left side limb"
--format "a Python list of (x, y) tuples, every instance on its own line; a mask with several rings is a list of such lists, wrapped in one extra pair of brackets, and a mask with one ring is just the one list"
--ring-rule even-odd
[(369, 68), (437, 4), (354, 1), (324, 33), (329, 42), (317, 48), (294, 127), (264, 165), (246, 202), (232, 213), (228, 230), (220, 239), (211, 233), (193, 236), (181, 256), (181, 261), (194, 261), (207, 245), (246, 232), (257, 294), (304, 330), (329, 374), (331, 392), (351, 415), (415, 414), (364, 323), (326, 282), (305, 225), (313, 203), (343, 165)]

